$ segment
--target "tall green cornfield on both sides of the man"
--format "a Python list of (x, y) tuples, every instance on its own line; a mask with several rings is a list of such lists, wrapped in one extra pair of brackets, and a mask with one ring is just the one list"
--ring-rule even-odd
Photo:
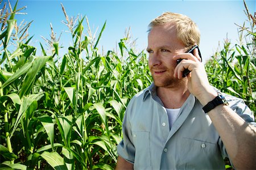
[[(63, 12), (73, 45), (60, 55), (51, 27), (51, 52), (29, 45), (31, 23), (18, 26), (15, 13), (0, 11), (0, 129), (3, 169), (114, 169), (122, 119), (131, 97), (150, 85), (147, 55), (127, 45), (100, 54), (97, 37), (86, 35), (86, 17)], [(256, 111), (255, 15), (247, 12), (253, 37), (246, 45), (226, 42), (205, 67), (220, 90), (243, 98)], [(89, 24), (88, 24), (89, 27)], [(16, 44), (16, 45), (13, 45)]]

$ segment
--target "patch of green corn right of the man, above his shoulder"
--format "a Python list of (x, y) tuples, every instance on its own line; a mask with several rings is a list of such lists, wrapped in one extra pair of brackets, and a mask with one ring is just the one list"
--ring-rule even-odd
[[(245, 3), (245, 14), (250, 28), (240, 27), (240, 39), (246, 44), (232, 45), (227, 40), (224, 48), (205, 65), (209, 82), (221, 91), (245, 100), (256, 116), (256, 13), (251, 15)], [(246, 33), (243, 37), (242, 34)], [(241, 40), (242, 41), (242, 40)]]

